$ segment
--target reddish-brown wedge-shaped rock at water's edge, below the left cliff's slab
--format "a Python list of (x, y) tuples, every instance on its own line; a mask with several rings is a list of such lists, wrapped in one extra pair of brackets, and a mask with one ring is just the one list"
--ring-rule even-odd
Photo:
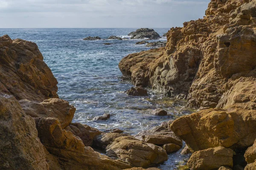
[(79, 136), (83, 141), (84, 146), (92, 146), (94, 137), (101, 134), (101, 132), (96, 128), (80, 123), (71, 123), (65, 127), (65, 130), (69, 130), (73, 135)]

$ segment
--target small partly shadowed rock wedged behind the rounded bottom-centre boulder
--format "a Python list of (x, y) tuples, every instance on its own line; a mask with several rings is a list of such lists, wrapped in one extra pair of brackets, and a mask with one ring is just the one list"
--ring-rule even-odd
[(121, 136), (128, 136), (127, 134), (120, 133), (102, 133), (93, 139), (93, 147), (99, 149), (105, 149), (109, 144), (111, 144), (116, 138)]

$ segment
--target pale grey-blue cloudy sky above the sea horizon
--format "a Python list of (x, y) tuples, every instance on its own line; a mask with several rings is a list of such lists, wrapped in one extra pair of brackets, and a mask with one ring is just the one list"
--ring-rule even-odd
[(171, 28), (210, 0), (0, 0), (0, 28)]

